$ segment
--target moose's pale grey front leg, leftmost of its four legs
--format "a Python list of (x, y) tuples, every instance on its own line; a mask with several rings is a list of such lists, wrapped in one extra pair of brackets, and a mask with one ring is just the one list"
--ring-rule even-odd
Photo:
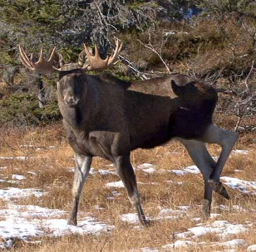
[(79, 198), (83, 189), (84, 181), (89, 173), (91, 167), (92, 157), (83, 156), (80, 154), (75, 154), (75, 174), (74, 174), (74, 181), (73, 181), (73, 204), (72, 210), (70, 213), (70, 217), (68, 220), (68, 224), (70, 225), (77, 225), (77, 210), (79, 205)]

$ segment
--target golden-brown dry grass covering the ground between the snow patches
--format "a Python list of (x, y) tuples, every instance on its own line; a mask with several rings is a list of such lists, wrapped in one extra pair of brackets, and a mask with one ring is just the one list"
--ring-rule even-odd
[[(12, 174), (25, 175), (26, 179), (18, 185), (0, 183), (0, 188), (7, 186), (17, 186), (20, 188), (39, 188), (41, 191), (48, 192), (40, 200), (35, 197), (20, 199), (16, 202), (23, 205), (38, 205), (41, 207), (61, 209), (69, 211), (71, 209), (71, 186), (73, 173), (68, 167), (74, 166), (73, 150), (64, 139), (62, 125), (55, 127), (46, 127), (44, 129), (34, 130), (5, 130), (1, 132), (0, 156), (15, 157), (25, 156), (26, 161), (21, 160), (1, 160), (0, 167), (7, 166), (7, 169), (1, 171), (1, 176), (8, 176), (11, 179)], [(248, 155), (236, 155), (229, 158), (222, 175), (237, 177), (245, 180), (255, 180), (256, 177), (256, 154), (255, 145), (251, 144), (250, 139), (255, 135), (243, 136), (236, 144), (237, 149), (251, 150)], [(34, 145), (34, 147), (20, 147), (21, 145)], [(56, 146), (56, 148), (48, 148)], [(37, 150), (40, 147), (41, 150)], [(220, 148), (216, 145), (209, 146), (211, 154), (216, 156), (220, 153)], [(134, 166), (142, 163), (152, 163), (156, 169), (180, 169), (181, 167), (191, 165), (187, 152), (177, 142), (171, 142), (163, 147), (157, 147), (152, 150), (136, 150), (131, 155), (131, 161)], [(105, 168), (110, 163), (94, 158), (92, 167), (95, 170)], [(242, 172), (234, 172), (234, 169), (240, 169)], [(35, 172), (37, 175), (31, 175), (27, 172)], [(134, 213), (126, 193), (123, 188), (106, 189), (104, 185), (107, 182), (118, 181), (119, 178), (109, 174), (101, 176), (99, 174), (89, 175), (84, 191), (81, 196), (78, 218), (89, 215), (97, 220), (104, 221), (109, 225), (115, 225), (111, 233), (95, 235), (72, 235), (61, 238), (43, 237), (40, 244), (26, 243), (20, 240), (15, 241), (11, 251), (130, 251), (141, 247), (161, 248), (162, 245), (175, 241), (174, 233), (187, 231), (194, 227), (196, 222), (192, 217), (201, 217), (200, 207), (203, 198), (203, 182), (201, 175), (187, 174), (177, 176), (170, 172), (161, 172), (146, 174), (141, 170), (136, 172), (137, 181), (145, 184), (139, 184), (142, 205), (146, 215), (156, 217), (159, 213), (159, 206), (162, 208), (176, 209), (177, 206), (190, 206), (189, 213), (177, 220), (165, 220), (153, 222), (150, 228), (136, 229), (134, 224), (121, 222), (120, 215), (125, 213)], [(165, 180), (185, 181), (185, 184), (167, 183)], [(158, 182), (152, 185), (149, 182)], [(147, 183), (147, 184), (146, 184)], [(108, 200), (107, 197), (113, 196), (112, 191), (121, 193), (114, 197), (114, 200)], [(256, 222), (256, 202), (254, 197), (246, 197), (243, 194), (228, 189), (231, 200), (226, 201), (220, 196), (214, 194), (213, 213), (221, 215), (214, 220), (227, 220), (230, 223), (244, 224), (247, 221)], [(248, 212), (235, 211), (232, 208), (221, 210), (217, 208), (219, 204), (225, 206), (239, 205)], [(96, 210), (95, 205), (105, 208)], [(4, 209), (6, 203), (0, 201), (0, 208)], [(210, 220), (210, 222), (213, 220)], [(255, 226), (251, 227), (246, 233), (233, 235), (230, 239), (245, 239), (247, 244), (256, 243)], [(199, 241), (218, 241), (216, 236), (204, 235)], [(219, 250), (222, 247), (217, 247)], [(206, 249), (200, 245), (191, 247), (187, 251), (204, 251)], [(240, 249), (240, 248), (239, 248)], [(244, 251), (241, 248), (237, 251)], [(163, 250), (164, 251), (164, 250)], [(175, 250), (179, 251), (179, 250)], [(184, 251), (184, 250), (180, 250)]]

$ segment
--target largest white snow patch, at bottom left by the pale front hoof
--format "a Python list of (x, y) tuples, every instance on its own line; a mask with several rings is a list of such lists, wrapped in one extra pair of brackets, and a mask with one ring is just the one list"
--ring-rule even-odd
[(65, 214), (66, 211), (59, 209), (9, 204), (8, 209), (0, 210), (0, 237), (6, 241), (13, 238), (29, 241), (40, 236), (98, 234), (114, 228), (92, 217), (82, 218), (77, 226), (68, 225), (66, 218), (60, 219)]

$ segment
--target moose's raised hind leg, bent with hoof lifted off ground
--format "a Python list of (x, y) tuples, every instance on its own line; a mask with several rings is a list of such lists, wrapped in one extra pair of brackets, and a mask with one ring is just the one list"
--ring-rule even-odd
[(221, 155), (208, 181), (213, 187), (213, 190), (226, 199), (229, 199), (229, 196), (225, 187), (220, 182), (220, 175), (230, 155), (230, 152), (232, 151), (235, 142), (237, 141), (237, 138), (238, 134), (236, 132), (219, 129), (214, 124), (210, 125), (202, 138), (203, 142), (219, 144), (222, 147)]

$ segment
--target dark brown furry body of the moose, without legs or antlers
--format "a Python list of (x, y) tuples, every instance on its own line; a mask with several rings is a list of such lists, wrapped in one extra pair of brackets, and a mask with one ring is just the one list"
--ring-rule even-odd
[[(61, 95), (65, 83), (72, 81), (80, 90), (76, 107), (65, 104)], [(210, 85), (178, 74), (127, 83), (110, 74), (70, 73), (60, 78), (58, 91), (68, 140), (75, 152), (112, 161), (115, 156), (136, 148), (153, 148), (173, 137), (202, 136), (212, 123), (218, 99)]]

